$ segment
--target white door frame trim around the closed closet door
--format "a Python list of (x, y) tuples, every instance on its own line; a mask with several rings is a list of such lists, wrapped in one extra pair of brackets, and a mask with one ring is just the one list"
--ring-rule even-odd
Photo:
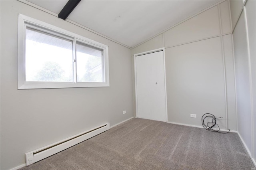
[(166, 112), (166, 122), (168, 122), (168, 111), (167, 111), (167, 91), (166, 91), (166, 70), (165, 70), (165, 49), (158, 48), (150, 51), (145, 51), (142, 53), (134, 54), (134, 79), (135, 79), (135, 105), (136, 105), (136, 118), (138, 118), (138, 98), (137, 98), (137, 71), (136, 71), (136, 57), (139, 55), (154, 53), (158, 51), (163, 51), (164, 57), (164, 92), (165, 92), (165, 112)]

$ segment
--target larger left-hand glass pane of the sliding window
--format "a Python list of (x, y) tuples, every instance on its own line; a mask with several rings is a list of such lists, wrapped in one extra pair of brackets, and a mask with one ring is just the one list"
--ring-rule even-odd
[(26, 81), (73, 82), (72, 41), (26, 29)]

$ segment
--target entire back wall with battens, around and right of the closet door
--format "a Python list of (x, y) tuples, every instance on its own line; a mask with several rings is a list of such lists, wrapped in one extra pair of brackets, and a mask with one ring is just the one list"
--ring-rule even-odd
[(220, 128), (236, 130), (229, 2), (180, 22), (132, 53), (160, 47), (166, 48), (168, 121), (202, 127), (202, 115), (212, 113), (223, 117)]

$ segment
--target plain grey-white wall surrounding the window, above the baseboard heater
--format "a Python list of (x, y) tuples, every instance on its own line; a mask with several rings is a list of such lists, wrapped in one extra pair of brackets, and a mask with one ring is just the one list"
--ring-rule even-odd
[[(134, 116), (130, 49), (22, 2), (0, 3), (1, 170), (24, 164), (26, 152)], [(17, 90), (19, 13), (108, 45), (110, 87)]]

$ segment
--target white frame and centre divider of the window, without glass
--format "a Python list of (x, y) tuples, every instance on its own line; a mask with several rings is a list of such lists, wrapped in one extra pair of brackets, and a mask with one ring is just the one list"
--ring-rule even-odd
[[(76, 75), (76, 45), (73, 45), (73, 62), (74, 81), (73, 82), (41, 82), (41, 81), (26, 81), (26, 25), (34, 26), (38, 30), (51, 32), (63, 35), (64, 38), (71, 38), (72, 41), (79, 41), (103, 50), (104, 64), (104, 82), (77, 82)], [(73, 43), (76, 44), (76, 43)], [(62, 28), (52, 26), (45, 22), (34, 18), (19, 14), (18, 17), (18, 89), (49, 89), (49, 88), (74, 88), (74, 87), (109, 87), (109, 68), (108, 68), (108, 46), (102, 43), (90, 40), (73, 32), (69, 32)]]

